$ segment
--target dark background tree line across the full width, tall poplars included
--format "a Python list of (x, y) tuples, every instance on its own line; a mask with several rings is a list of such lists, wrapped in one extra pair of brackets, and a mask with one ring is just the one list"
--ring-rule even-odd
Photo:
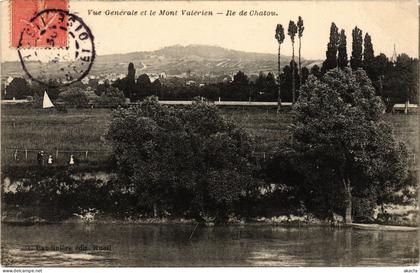
[[(375, 87), (377, 95), (385, 101), (388, 109), (395, 103), (418, 101), (418, 59), (411, 58), (407, 54), (400, 54), (389, 59), (385, 54), (375, 55), (372, 37), (359, 27), (352, 30), (351, 55), (347, 53), (347, 36), (344, 29), (339, 30), (336, 24), (331, 23), (329, 42), (327, 43), (326, 59), (321, 67), (313, 65), (302, 67), (301, 48), (304, 32), (304, 22), (301, 16), (297, 22), (289, 21), (287, 34), (292, 43), (292, 60), (289, 64), (281, 64), (281, 45), (285, 40), (285, 29), (282, 24), (277, 24), (275, 39), (278, 42), (278, 71), (260, 72), (258, 77), (251, 79), (242, 71), (238, 71), (233, 79), (230, 76), (222, 78), (216, 83), (197, 83), (191, 78), (170, 77), (159, 78), (153, 82), (147, 74), (141, 74), (136, 78), (136, 69), (133, 63), (128, 65), (126, 77), (117, 79), (110, 84), (89, 82), (88, 86), (78, 83), (80, 92), (91, 87), (95, 94), (116, 94), (112, 87), (122, 91), (125, 98), (131, 101), (142, 100), (147, 96), (155, 95), (161, 100), (192, 100), (201, 96), (208, 100), (236, 100), (236, 101), (277, 101), (279, 106), (282, 101), (294, 103), (299, 96), (302, 86), (309, 75), (320, 78), (328, 70), (336, 67), (344, 69), (349, 67), (353, 70), (364, 69)], [(298, 62), (295, 62), (295, 37), (298, 38)], [(192, 82), (193, 84), (188, 84)], [(37, 83), (28, 84), (23, 78), (15, 78), (6, 87), (6, 95), (3, 98), (26, 98), (27, 96), (42, 95), (46, 87)], [(50, 97), (57, 98), (63, 91), (58, 88), (48, 88)], [(39, 94), (41, 93), (41, 94)], [(112, 100), (115, 96), (108, 96)], [(115, 99), (120, 101), (118, 94)], [(105, 100), (105, 99), (104, 99)]]

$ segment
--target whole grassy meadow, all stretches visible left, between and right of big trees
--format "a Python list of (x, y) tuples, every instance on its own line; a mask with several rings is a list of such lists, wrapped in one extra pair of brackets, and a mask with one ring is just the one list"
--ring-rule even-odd
[[(222, 108), (222, 113), (246, 129), (257, 142), (257, 151), (270, 153), (280, 142), (290, 141), (287, 129), (293, 121), (290, 112), (276, 115), (275, 108)], [(104, 140), (110, 122), (109, 109), (54, 110), (2, 107), (2, 164), (36, 164), (36, 154), (44, 150), (57, 164), (66, 164), (70, 154), (87, 162), (102, 161), (111, 154)], [(417, 115), (387, 114), (386, 120), (395, 128), (411, 153), (418, 152)], [(17, 161), (14, 156), (18, 149)], [(87, 152), (87, 154), (86, 154)]]

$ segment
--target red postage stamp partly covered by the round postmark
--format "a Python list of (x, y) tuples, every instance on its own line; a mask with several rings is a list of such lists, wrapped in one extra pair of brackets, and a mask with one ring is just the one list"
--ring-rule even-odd
[[(67, 46), (68, 0), (10, 0), (11, 46), (14, 48), (61, 48)], [(60, 31), (58, 31), (60, 30)]]

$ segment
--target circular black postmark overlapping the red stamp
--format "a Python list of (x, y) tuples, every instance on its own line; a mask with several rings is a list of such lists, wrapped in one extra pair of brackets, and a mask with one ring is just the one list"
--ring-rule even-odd
[(23, 29), (18, 55), (29, 78), (58, 87), (80, 81), (89, 73), (95, 44), (80, 17), (65, 10), (45, 9)]

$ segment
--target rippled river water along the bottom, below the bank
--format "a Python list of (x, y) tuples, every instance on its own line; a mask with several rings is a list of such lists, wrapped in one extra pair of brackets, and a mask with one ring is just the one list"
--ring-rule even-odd
[(5, 266), (407, 266), (418, 233), (330, 227), (2, 224)]

